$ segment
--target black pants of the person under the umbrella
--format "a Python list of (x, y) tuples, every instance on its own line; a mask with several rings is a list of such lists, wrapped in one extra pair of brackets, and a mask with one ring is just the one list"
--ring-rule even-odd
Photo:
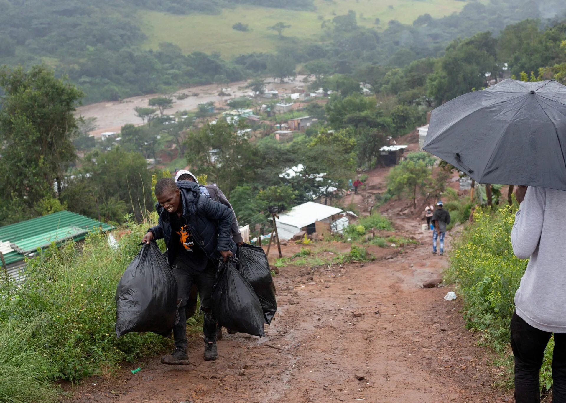
[[(539, 371), (552, 333), (526, 323), (515, 312), (511, 319), (511, 348), (515, 356), (516, 403), (539, 403)], [(554, 333), (552, 402), (566, 402), (566, 334)]]

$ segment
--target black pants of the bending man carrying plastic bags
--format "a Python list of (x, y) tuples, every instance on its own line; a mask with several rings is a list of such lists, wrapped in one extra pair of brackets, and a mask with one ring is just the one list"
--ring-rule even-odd
[(177, 299), (179, 301), (178, 320), (173, 327), (175, 347), (187, 348), (187, 316), (185, 306), (190, 299), (191, 288), (196, 285), (200, 297), (200, 309), (204, 314), (204, 341), (216, 341), (216, 319), (212, 315), (212, 287), (216, 278), (216, 266), (211, 261), (204, 271), (196, 271), (182, 259), (175, 259), (173, 275), (177, 280)]

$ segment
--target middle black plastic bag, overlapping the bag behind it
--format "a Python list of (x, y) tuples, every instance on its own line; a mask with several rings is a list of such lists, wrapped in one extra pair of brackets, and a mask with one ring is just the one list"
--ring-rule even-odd
[(212, 313), (218, 324), (236, 332), (265, 336), (263, 310), (250, 283), (234, 261), (220, 261), (212, 291)]

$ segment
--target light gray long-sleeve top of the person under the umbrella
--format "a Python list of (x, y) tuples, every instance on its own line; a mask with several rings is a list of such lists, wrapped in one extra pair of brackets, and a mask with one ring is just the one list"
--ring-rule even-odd
[(530, 258), (515, 293), (517, 315), (542, 331), (566, 333), (566, 191), (529, 187), (511, 244), (517, 258)]

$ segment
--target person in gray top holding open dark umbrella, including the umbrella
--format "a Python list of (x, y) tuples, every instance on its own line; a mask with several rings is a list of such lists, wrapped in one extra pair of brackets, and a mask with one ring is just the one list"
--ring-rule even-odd
[(511, 243), (518, 258), (530, 260), (511, 320), (517, 403), (540, 402), (552, 333), (552, 398), (566, 402), (565, 99), (555, 80), (503, 80), (432, 111), (423, 145), (478, 183), (519, 185)]

